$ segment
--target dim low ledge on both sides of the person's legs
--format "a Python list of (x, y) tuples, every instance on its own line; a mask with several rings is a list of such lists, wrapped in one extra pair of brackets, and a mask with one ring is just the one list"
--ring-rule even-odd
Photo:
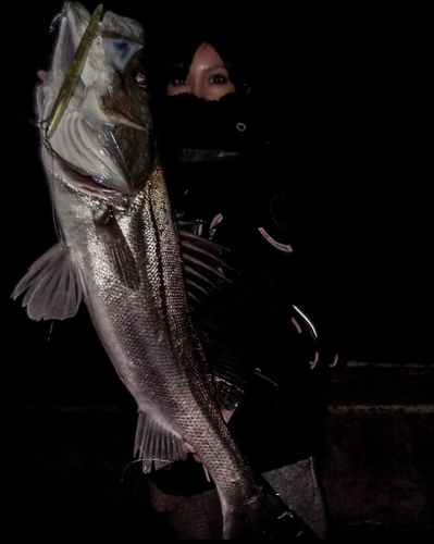
[[(352, 363), (330, 382), (322, 463), (328, 540), (434, 534), (433, 392), (430, 366)], [(15, 539), (58, 537), (65, 528), (100, 537), (165, 534), (149, 511), (145, 477), (127, 468), (128, 401), (9, 406), (1, 415), (3, 516)]]

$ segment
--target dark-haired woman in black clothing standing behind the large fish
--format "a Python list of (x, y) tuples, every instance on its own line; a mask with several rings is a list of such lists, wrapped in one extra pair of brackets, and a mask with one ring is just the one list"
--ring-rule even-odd
[[(271, 131), (237, 44), (202, 29), (175, 34), (159, 51), (156, 109), (173, 207), (191, 231), (227, 248), (224, 259), (239, 272), (195, 311), (197, 329), (213, 338), (208, 358), (220, 350), (232, 366), (232, 378), (220, 375), (232, 400), (225, 420), (253, 467), (324, 539), (317, 458), (324, 448), (322, 383), (337, 355), (328, 309), (308, 295), (312, 261), (300, 262), (303, 202), (272, 168)], [(215, 493), (195, 461), (150, 478), (153, 505), (178, 534), (213, 535)]]

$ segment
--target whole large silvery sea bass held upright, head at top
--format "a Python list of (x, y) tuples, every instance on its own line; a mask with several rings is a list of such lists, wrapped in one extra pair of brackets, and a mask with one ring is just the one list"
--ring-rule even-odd
[[(137, 403), (144, 470), (183, 458), (188, 448), (197, 452), (221, 499), (223, 537), (310, 536), (253, 475), (222, 417), (191, 321), (183, 265), (188, 257), (158, 163), (139, 23), (103, 14), (71, 100), (47, 137), (47, 120), (89, 20), (82, 4), (63, 4), (51, 67), (36, 88), (59, 243), (30, 267), (13, 296), (24, 294), (35, 320), (73, 317), (85, 301)], [(195, 251), (197, 240), (188, 242)]]

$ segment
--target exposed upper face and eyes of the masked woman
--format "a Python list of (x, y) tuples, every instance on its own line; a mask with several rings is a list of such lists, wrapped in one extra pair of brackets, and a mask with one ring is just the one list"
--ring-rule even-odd
[(235, 91), (227, 70), (215, 49), (210, 44), (198, 47), (185, 79), (175, 78), (168, 85), (168, 96), (196, 95), (204, 100), (219, 100)]

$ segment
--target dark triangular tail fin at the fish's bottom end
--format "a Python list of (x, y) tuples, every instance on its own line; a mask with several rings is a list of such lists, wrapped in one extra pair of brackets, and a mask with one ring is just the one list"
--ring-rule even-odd
[(227, 511), (223, 518), (223, 539), (285, 539), (320, 541), (320, 537), (261, 479), (261, 491), (243, 511)]

